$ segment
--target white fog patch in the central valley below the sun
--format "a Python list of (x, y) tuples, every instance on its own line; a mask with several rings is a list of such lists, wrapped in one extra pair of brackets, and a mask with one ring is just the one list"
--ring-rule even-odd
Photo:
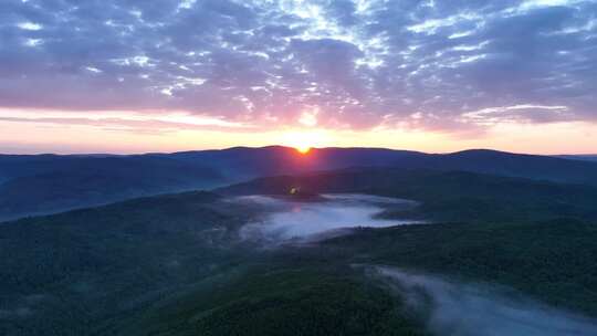
[(416, 204), (409, 200), (385, 197), (323, 195), (317, 200), (293, 201), (287, 198), (250, 196), (238, 200), (268, 209), (263, 218), (245, 225), (241, 235), (270, 242), (315, 240), (348, 232), (350, 228), (385, 228), (420, 222), (376, 218), (385, 208), (408, 209)]

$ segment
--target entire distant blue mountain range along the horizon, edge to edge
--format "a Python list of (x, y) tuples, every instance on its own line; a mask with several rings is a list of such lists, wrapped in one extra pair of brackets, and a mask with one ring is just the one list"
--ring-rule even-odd
[(253, 178), (352, 167), (468, 171), (597, 186), (597, 162), (485, 149), (425, 154), (381, 148), (234, 147), (112, 155), (0, 155), (0, 220)]

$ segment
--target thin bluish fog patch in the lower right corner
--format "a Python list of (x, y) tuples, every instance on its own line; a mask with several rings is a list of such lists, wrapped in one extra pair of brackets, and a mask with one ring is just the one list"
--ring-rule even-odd
[(371, 274), (400, 292), (409, 309), (427, 316), (427, 325), (434, 335), (597, 335), (596, 321), (548, 307), (503, 287), (454, 283), (387, 266), (373, 267)]

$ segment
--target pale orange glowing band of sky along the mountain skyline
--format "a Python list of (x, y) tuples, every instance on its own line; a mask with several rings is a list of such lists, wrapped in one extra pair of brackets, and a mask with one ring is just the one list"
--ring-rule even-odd
[[(6, 117), (0, 120), (0, 153), (142, 154), (272, 145), (296, 148), (301, 153), (297, 155), (306, 157), (313, 154), (312, 149), (324, 147), (381, 147), (427, 153), (469, 148), (544, 155), (597, 153), (597, 123), (589, 122), (510, 123), (462, 134), (408, 128), (350, 130), (285, 126), (256, 130), (211, 120), (206, 122), (209, 125), (195, 119), (171, 119), (172, 123), (164, 124), (163, 118), (154, 123), (153, 116), (138, 120), (138, 115), (129, 113), (116, 118), (116, 112), (109, 114), (107, 122), (95, 119), (96, 115), (84, 118), (83, 112), (55, 113), (49, 118), (36, 118), (36, 113), (0, 108), (0, 117)], [(558, 140), (563, 138), (566, 141)]]

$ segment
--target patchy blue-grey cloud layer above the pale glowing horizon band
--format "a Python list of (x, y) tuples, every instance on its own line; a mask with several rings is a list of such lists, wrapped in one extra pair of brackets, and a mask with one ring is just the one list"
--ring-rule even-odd
[(596, 90), (596, 1), (0, 2), (3, 108), (458, 130), (595, 120)]

